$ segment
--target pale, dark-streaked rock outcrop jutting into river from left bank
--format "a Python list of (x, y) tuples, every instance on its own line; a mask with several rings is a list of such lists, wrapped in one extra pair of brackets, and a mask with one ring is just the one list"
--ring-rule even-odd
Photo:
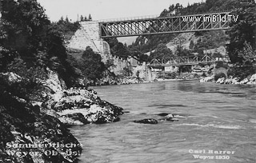
[(42, 105), (54, 109), (61, 115), (60, 121), (68, 125), (114, 122), (122, 115), (122, 108), (102, 101), (93, 89), (56, 89), (48, 95), (50, 99)]

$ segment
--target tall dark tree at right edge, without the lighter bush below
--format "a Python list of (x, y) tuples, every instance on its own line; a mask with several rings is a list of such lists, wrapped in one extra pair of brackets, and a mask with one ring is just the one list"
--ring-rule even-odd
[(230, 61), (243, 64), (245, 58), (239, 54), (246, 44), (254, 47), (254, 29), (256, 26), (256, 4), (254, 0), (242, 1), (241, 6), (231, 14), (238, 16), (237, 21), (230, 23), (230, 43), (226, 45)]

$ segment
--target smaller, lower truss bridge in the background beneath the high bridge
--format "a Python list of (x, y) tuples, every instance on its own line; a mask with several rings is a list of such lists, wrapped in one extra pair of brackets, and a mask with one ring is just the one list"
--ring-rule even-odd
[(212, 64), (214, 62), (214, 58), (210, 55), (206, 54), (201, 59), (198, 56), (182, 56), (182, 57), (173, 57), (169, 59), (162, 58), (161, 60), (153, 59), (148, 67), (152, 68), (162, 68), (166, 66), (194, 66), (198, 64)]

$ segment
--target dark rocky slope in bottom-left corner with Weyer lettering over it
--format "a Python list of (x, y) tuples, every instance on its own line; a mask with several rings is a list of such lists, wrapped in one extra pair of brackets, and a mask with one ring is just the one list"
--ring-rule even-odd
[[(8, 148), (0, 149), (0, 162), (77, 162), (77, 157), (82, 152), (78, 140), (58, 118), (46, 113), (38, 113), (38, 107), (28, 101), (24, 103), (12, 97), (10, 93), (0, 93), (0, 108), (4, 109), (4, 113), (0, 112), (1, 140), (10, 145)], [(69, 149), (61, 146), (51, 147), (56, 142), (59, 145), (75, 146)], [(25, 144), (33, 147), (26, 149)], [(28, 150), (36, 151), (38, 154), (22, 154), (22, 156), (6, 154), (8, 151), (27, 152)], [(55, 157), (49, 157), (47, 154), (49, 150), (54, 150)], [(70, 150), (74, 153), (67, 155)]]

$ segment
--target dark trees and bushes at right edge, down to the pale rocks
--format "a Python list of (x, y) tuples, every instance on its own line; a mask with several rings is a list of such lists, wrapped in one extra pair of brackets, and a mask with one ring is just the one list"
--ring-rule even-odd
[(246, 78), (256, 73), (256, 3), (243, 1), (231, 13), (238, 15), (237, 22), (230, 23), (230, 43), (226, 45), (231, 63), (230, 75)]

